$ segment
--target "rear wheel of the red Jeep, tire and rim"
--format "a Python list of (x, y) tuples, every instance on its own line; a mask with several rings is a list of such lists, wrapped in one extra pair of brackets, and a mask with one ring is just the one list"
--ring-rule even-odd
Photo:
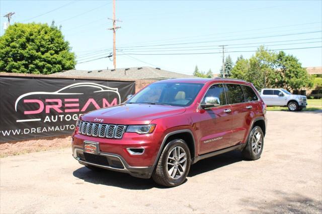
[(264, 147), (264, 133), (261, 127), (256, 126), (252, 129), (248, 142), (243, 150), (244, 158), (257, 160), (261, 157)]

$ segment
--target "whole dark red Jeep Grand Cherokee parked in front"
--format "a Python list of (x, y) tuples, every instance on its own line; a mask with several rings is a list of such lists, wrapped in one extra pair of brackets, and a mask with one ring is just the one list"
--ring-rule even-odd
[[(81, 116), (73, 157), (161, 185), (184, 182), (190, 165), (231, 150), (259, 159), (266, 105), (251, 83), (233, 79), (169, 79), (123, 104)], [(99, 167), (99, 168), (98, 168)]]

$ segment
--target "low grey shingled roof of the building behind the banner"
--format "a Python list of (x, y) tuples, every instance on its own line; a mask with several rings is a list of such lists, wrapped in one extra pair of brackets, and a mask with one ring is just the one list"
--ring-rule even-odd
[(54, 73), (55, 76), (81, 76), (81, 77), (101, 77), (116, 79), (151, 79), (162, 80), (170, 78), (194, 78), (192, 75), (176, 73), (159, 68), (152, 67), (133, 67), (133, 68), (117, 68), (102, 70), (68, 70)]

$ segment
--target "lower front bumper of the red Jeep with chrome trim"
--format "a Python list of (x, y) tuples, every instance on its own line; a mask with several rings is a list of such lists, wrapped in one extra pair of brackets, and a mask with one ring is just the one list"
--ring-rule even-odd
[(85, 166), (91, 165), (103, 169), (125, 172), (134, 177), (150, 178), (153, 172), (153, 166), (139, 167), (130, 166), (122, 156), (111, 153), (99, 152), (98, 155), (84, 153), (83, 149), (72, 148), (73, 157)]

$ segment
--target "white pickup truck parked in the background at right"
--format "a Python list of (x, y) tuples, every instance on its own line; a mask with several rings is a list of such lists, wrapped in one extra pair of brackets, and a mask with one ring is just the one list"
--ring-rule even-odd
[(267, 106), (287, 106), (291, 112), (306, 108), (306, 96), (291, 94), (282, 88), (263, 88), (261, 97)]

